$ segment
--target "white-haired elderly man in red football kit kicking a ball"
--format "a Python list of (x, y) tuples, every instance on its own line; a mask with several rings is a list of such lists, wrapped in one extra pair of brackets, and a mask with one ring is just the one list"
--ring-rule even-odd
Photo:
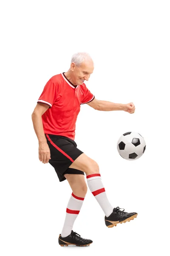
[(66, 73), (52, 76), (45, 84), (32, 113), (34, 130), (39, 141), (39, 160), (42, 163), (49, 162), (54, 167), (59, 181), (68, 180), (72, 189), (65, 223), (58, 239), (61, 246), (86, 246), (92, 243), (92, 240), (83, 239), (72, 230), (87, 192), (84, 173), (89, 189), (105, 213), (107, 227), (133, 220), (137, 216), (136, 212), (128, 213), (125, 209), (112, 207), (102, 183), (98, 164), (78, 149), (74, 141), (75, 124), (82, 104), (88, 104), (99, 111), (135, 111), (132, 102), (117, 104), (96, 99), (84, 83), (93, 71), (94, 62), (88, 53), (74, 54), (70, 69)]

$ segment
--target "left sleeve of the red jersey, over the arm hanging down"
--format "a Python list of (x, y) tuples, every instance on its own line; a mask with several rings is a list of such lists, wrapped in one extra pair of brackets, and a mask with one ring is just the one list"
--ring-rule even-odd
[(53, 81), (49, 80), (40, 95), (40, 98), (38, 99), (37, 103), (44, 103), (49, 106), (49, 108), (52, 107), (55, 100), (57, 98), (57, 84), (54, 84)]

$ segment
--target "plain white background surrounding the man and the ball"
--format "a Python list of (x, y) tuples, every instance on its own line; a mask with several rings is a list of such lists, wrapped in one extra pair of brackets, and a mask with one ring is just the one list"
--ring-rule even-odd
[[(1, 2), (0, 255), (170, 253), (169, 13), (165, 0)], [(46, 82), (79, 51), (94, 59), (86, 86), (96, 99), (136, 106), (129, 114), (81, 105), (75, 141), (99, 164), (113, 207), (138, 216), (108, 229), (88, 189), (74, 231), (94, 242), (60, 247), (71, 188), (40, 162), (31, 114)], [(127, 131), (146, 142), (136, 161), (116, 149)]]

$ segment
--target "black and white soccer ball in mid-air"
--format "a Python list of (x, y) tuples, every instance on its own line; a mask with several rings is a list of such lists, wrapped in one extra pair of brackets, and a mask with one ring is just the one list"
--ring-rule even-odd
[(144, 138), (137, 132), (126, 132), (117, 142), (117, 150), (121, 157), (126, 160), (136, 160), (145, 151), (146, 143)]

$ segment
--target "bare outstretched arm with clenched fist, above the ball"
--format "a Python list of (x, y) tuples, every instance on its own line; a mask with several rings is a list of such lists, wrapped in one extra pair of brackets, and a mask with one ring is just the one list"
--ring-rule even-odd
[(114, 110), (123, 110), (125, 112), (134, 113), (135, 106), (132, 102), (128, 104), (113, 103), (104, 100), (98, 100), (94, 98), (91, 102), (87, 103), (90, 107), (99, 110), (99, 111), (114, 111)]

